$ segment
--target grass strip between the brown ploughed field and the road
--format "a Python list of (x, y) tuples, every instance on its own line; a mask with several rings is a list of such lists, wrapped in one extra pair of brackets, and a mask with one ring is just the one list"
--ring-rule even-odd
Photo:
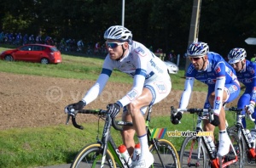
[[(230, 126), (235, 122), (232, 113), (227, 112)], [(196, 117), (184, 114), (181, 124), (172, 125), (169, 116), (156, 116), (151, 119), (151, 128), (167, 128), (167, 132), (190, 132), (196, 126)], [(0, 132), (0, 167), (39, 167), (71, 163), (84, 145), (96, 143), (98, 123), (82, 123), (84, 130), (73, 126), (44, 126), (35, 128), (9, 129)], [(247, 122), (252, 127), (252, 122)], [(99, 136), (102, 133), (103, 121), (100, 121)], [(121, 144), (119, 132), (111, 131), (116, 145)], [(218, 128), (214, 134), (218, 136)], [(101, 137), (99, 137), (101, 138)], [(164, 137), (171, 141), (179, 151), (184, 137)], [(218, 137), (216, 137), (218, 139)], [(137, 139), (136, 139), (137, 140)]]

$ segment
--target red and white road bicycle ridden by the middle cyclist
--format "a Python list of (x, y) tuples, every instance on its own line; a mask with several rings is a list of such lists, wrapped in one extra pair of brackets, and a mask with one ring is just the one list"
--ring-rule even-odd
[[(208, 133), (202, 132), (201, 121), (212, 120), (212, 109), (174, 109), (171, 108), (172, 113), (175, 114), (179, 111), (187, 111), (190, 114), (197, 115), (197, 124), (194, 126), (195, 134), (185, 137), (180, 149), (180, 164), (182, 167), (242, 167), (241, 162), (241, 144), (236, 132), (229, 131), (231, 140), (230, 151), (223, 157), (217, 155), (218, 143), (215, 145), (215, 151), (212, 150), (207, 141)], [(199, 136), (201, 135), (201, 136)]]

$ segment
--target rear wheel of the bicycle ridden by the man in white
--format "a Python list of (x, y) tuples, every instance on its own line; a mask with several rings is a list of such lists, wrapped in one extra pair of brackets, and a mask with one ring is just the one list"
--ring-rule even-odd
[[(156, 140), (156, 146), (157, 148), (154, 148), (154, 144), (149, 146), (150, 152), (154, 155), (154, 166), (152, 165), (152, 167), (180, 168), (177, 150), (171, 142), (166, 139), (158, 139)], [(160, 153), (160, 157), (156, 150)], [(164, 166), (162, 166), (160, 159)]]

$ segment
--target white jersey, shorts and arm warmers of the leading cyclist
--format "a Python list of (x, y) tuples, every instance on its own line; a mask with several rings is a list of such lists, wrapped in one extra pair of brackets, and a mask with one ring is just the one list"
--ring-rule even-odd
[(133, 78), (131, 91), (117, 102), (121, 107), (130, 104), (132, 100), (140, 96), (143, 87), (147, 87), (152, 92), (152, 104), (166, 98), (171, 91), (172, 84), (166, 64), (142, 43), (131, 41), (129, 52), (122, 59), (110, 59), (108, 53), (102, 66), (101, 75), (83, 98), (86, 104), (89, 104), (101, 94), (113, 69), (118, 69)]

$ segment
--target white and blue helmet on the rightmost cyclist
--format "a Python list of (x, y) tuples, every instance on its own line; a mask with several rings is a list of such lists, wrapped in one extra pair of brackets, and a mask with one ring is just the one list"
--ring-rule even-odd
[(247, 57), (247, 52), (244, 48), (233, 48), (228, 54), (228, 59), (230, 64), (236, 64), (237, 62), (245, 59)]

